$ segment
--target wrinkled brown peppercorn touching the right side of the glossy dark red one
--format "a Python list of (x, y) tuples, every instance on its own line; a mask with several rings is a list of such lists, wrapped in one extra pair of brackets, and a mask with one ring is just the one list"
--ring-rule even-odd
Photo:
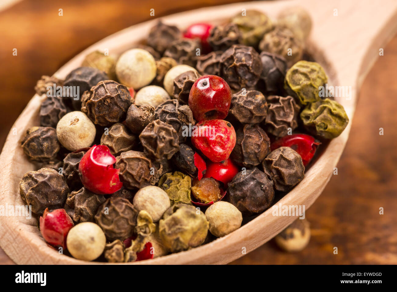
[(239, 122), (257, 124), (266, 118), (268, 104), (262, 93), (256, 90), (242, 89), (233, 94), (230, 114)]

